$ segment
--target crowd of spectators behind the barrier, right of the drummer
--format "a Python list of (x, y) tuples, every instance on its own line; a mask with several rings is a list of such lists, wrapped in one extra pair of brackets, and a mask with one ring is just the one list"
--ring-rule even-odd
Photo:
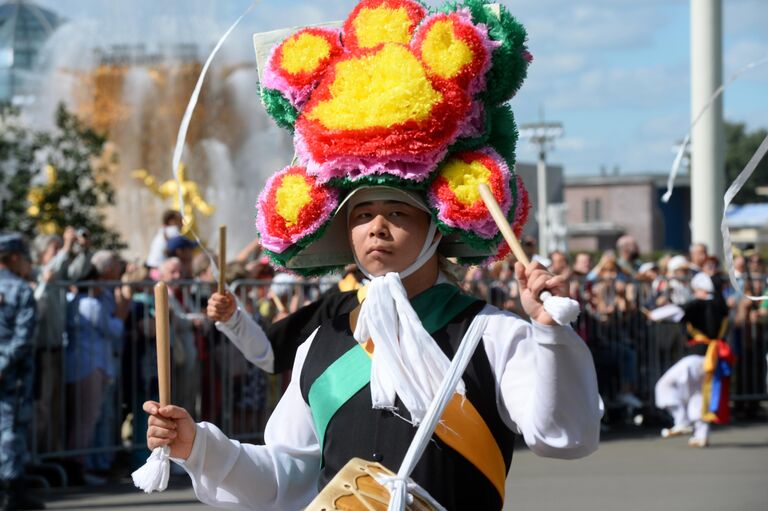
[[(687, 341), (684, 325), (654, 324), (648, 313), (666, 304), (683, 305), (693, 298), (691, 278), (708, 274), (716, 288), (716, 299), (730, 310), (727, 339), (737, 364), (733, 391), (743, 395), (737, 403), (746, 415), (758, 410), (754, 398), (765, 396), (768, 343), (764, 325), (768, 322), (768, 301), (752, 301), (746, 295), (762, 296), (766, 289), (765, 261), (747, 248), (734, 257), (736, 285), (732, 285), (720, 260), (701, 243), (686, 254), (665, 253), (658, 259), (643, 260), (636, 241), (622, 236), (616, 248), (593, 254), (552, 252), (535, 255), (535, 240), (525, 237), (524, 248), (533, 259), (552, 273), (566, 275), (571, 297), (582, 305), (575, 328), (592, 350), (601, 395), (609, 407), (640, 417), (651, 399), (653, 384), (664, 369), (680, 356)], [(472, 268), (464, 275), (465, 291), (495, 305), (523, 314), (511, 261)], [(739, 411), (739, 410), (737, 410)]]

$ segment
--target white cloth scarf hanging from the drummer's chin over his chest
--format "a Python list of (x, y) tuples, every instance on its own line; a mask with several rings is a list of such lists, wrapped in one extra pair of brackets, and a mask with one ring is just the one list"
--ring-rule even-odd
[[(424, 329), (397, 273), (371, 280), (354, 337), (361, 344), (372, 339), (376, 347), (371, 363), (373, 407), (394, 410), (397, 395), (418, 425), (450, 361)], [(464, 394), (462, 381), (456, 391)]]

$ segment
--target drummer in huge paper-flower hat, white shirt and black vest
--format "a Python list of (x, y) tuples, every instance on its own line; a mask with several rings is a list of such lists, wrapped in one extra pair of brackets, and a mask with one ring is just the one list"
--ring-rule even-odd
[[(518, 231), (525, 221), (505, 105), (530, 61), (524, 42), (504, 8), (479, 0), (435, 12), (363, 0), (342, 29), (302, 29), (273, 49), (262, 96), (294, 131), (300, 165), (275, 174), (259, 197), (262, 246), (295, 273), (354, 262), (370, 282), (359, 306), (301, 339), (265, 445), (145, 403), (149, 447), (170, 446), (203, 502), (301, 509), (352, 458), (396, 469), (475, 334), (482, 348), (411, 473), (432, 502), (501, 509), (515, 434), (543, 456), (597, 448), (591, 356), (539, 299), (565, 296), (563, 279), (516, 265), (529, 323), (462, 294), (441, 270), (443, 257), (472, 264), (507, 251), (479, 183)], [(242, 316), (221, 319), (246, 336)]]

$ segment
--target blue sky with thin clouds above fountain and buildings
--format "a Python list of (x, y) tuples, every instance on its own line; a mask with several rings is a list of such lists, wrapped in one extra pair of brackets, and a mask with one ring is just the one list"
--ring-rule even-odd
[[(665, 173), (690, 123), (689, 2), (504, 0), (534, 55), (511, 101), (518, 123), (559, 121), (548, 153), (566, 175)], [(98, 44), (195, 42), (212, 48), (251, 0), (37, 0), (74, 22), (72, 37)], [(252, 59), (251, 34), (343, 19), (355, 0), (263, 0), (226, 41), (222, 58)], [(437, 5), (439, 2), (427, 2)], [(727, 81), (768, 57), (768, 0), (722, 0)], [(729, 121), (768, 128), (768, 65), (724, 94)], [(522, 140), (518, 161), (536, 159)]]

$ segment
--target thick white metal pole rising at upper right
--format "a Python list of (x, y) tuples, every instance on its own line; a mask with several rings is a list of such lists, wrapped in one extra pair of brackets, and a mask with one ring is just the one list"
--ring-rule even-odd
[[(723, 82), (722, 0), (691, 0), (691, 116)], [(723, 100), (702, 116), (691, 136), (691, 242), (722, 257), (720, 221), (725, 193)]]

